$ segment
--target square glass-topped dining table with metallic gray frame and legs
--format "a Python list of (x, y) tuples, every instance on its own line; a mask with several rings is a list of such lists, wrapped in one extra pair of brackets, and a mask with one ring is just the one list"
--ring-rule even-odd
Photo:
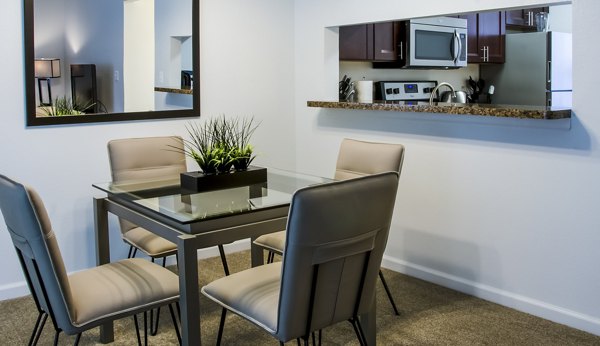
[[(330, 181), (268, 168), (266, 182), (200, 193), (183, 190), (179, 175), (93, 184), (106, 193), (93, 201), (97, 265), (110, 262), (108, 213), (177, 244), (182, 343), (200, 345), (197, 250), (285, 229), (294, 192)], [(262, 249), (251, 246), (251, 261), (252, 266), (263, 264)], [(374, 316), (366, 319), (371, 321), (363, 325), (374, 330)], [(367, 334), (374, 341), (374, 334)], [(101, 326), (100, 341), (113, 339), (112, 323)]]

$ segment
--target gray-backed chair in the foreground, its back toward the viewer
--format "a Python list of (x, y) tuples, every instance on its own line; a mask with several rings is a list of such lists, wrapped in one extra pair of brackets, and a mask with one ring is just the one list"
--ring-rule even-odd
[(350, 321), (361, 344), (358, 315), (374, 302), (388, 238), (398, 173), (311, 186), (292, 199), (283, 261), (244, 270), (202, 287), (281, 344)]

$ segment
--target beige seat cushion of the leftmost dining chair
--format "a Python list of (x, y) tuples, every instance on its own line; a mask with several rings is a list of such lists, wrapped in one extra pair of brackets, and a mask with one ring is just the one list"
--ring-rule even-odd
[(179, 297), (179, 277), (141, 258), (80, 271), (70, 275), (69, 282), (76, 326)]

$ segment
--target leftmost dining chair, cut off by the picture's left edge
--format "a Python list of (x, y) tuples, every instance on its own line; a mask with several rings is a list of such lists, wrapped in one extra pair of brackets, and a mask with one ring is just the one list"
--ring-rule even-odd
[[(38, 308), (38, 319), (29, 344), (36, 344), (50, 316), (56, 331), (77, 334), (126, 316), (169, 305), (179, 300), (177, 275), (143, 259), (126, 259), (67, 275), (56, 235), (39, 195), (0, 175), (0, 210), (6, 221), (29, 290)], [(147, 336), (147, 335), (146, 335)], [(146, 339), (147, 342), (147, 339)]]

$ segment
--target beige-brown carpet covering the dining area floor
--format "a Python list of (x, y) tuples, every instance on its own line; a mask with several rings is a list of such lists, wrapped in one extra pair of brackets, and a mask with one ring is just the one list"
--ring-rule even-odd
[[(249, 267), (249, 252), (228, 254), (230, 268)], [(220, 260), (199, 262), (200, 284), (223, 275)], [(522, 312), (508, 309), (444, 287), (384, 270), (401, 316), (395, 316), (383, 287), (377, 292), (377, 343), (379, 345), (600, 345), (600, 337)], [(202, 341), (214, 345), (220, 308), (201, 297)], [(0, 345), (26, 345), (37, 312), (31, 297), (0, 302)], [(135, 345), (133, 319), (115, 323), (114, 345)], [(46, 323), (40, 345), (51, 345), (54, 330)], [(74, 337), (61, 335), (61, 345), (72, 345)], [(87, 331), (82, 345), (98, 343), (98, 329)], [(168, 309), (161, 311), (160, 327), (150, 345), (176, 345)], [(225, 324), (224, 345), (277, 345), (270, 335), (233, 314)], [(295, 345), (295, 342), (288, 343)], [(358, 345), (349, 323), (330, 327), (324, 345)]]

